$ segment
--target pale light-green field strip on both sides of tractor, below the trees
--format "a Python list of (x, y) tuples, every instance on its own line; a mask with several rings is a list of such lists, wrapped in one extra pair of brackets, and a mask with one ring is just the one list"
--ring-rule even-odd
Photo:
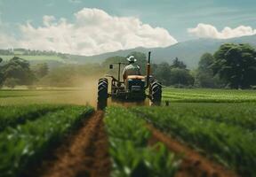
[[(2, 89), (0, 90), (0, 105), (91, 104), (95, 106), (97, 96), (95, 89)], [(166, 88), (163, 89), (164, 101), (189, 103), (189, 105), (190, 103), (256, 103), (256, 94), (254, 90)]]

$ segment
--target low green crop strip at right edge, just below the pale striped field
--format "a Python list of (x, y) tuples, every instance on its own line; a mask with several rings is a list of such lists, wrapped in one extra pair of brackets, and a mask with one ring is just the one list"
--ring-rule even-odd
[(180, 117), (212, 119), (248, 131), (256, 131), (256, 104), (171, 103), (170, 112)]

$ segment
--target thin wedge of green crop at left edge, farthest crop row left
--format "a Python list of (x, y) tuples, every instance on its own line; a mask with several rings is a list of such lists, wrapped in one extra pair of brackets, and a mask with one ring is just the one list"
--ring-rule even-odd
[(27, 120), (37, 119), (48, 112), (64, 109), (60, 105), (0, 106), (0, 132), (6, 127), (15, 127)]

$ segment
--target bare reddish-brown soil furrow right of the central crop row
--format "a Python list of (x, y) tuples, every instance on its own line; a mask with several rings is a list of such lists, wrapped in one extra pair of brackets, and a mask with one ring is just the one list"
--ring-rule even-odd
[(150, 143), (164, 142), (172, 152), (182, 155), (180, 169), (175, 177), (236, 177), (236, 173), (229, 171), (224, 166), (212, 162), (195, 150), (178, 142), (168, 135), (164, 135), (155, 127), (148, 125), (152, 132)]

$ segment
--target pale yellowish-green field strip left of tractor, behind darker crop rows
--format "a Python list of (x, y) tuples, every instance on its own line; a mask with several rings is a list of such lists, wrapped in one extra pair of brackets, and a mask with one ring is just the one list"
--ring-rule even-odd
[(0, 105), (91, 104), (95, 106), (96, 100), (93, 94), (91, 89), (1, 90)]

